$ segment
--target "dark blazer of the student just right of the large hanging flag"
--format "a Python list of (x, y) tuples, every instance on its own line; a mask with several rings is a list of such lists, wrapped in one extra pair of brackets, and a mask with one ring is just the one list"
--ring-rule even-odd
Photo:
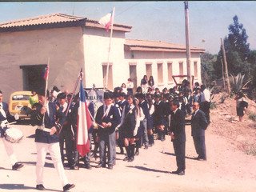
[(115, 128), (120, 124), (121, 118), (120, 114), (118, 111), (118, 108), (116, 106), (110, 106), (110, 111), (109, 114), (107, 114), (104, 118), (104, 105), (100, 106), (97, 110), (96, 118), (95, 121), (99, 124), (102, 125), (102, 122), (111, 122), (112, 126), (102, 128), (98, 126), (98, 134), (112, 134), (115, 131)]

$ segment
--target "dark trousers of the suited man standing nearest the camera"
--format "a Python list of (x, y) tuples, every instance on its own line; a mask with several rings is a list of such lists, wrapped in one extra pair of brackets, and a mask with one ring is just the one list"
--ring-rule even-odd
[(185, 146), (186, 142), (180, 142), (174, 139), (174, 152), (176, 155), (176, 162), (178, 166), (178, 170), (185, 170)]

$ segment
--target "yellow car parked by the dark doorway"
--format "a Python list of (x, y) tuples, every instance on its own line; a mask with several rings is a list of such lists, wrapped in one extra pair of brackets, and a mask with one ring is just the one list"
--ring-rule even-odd
[(18, 114), (20, 119), (30, 119), (30, 95), (31, 91), (16, 91), (10, 94), (10, 114)]

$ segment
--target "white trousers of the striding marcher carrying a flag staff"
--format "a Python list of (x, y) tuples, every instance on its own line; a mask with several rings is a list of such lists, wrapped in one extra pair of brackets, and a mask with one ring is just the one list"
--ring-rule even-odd
[(37, 185), (43, 184), (43, 168), (46, 162), (46, 153), (49, 151), (50, 157), (54, 162), (54, 167), (58, 172), (58, 177), (61, 179), (62, 186), (68, 184), (64, 167), (62, 164), (61, 153), (59, 149), (59, 143), (42, 143), (36, 142), (37, 147), (37, 165), (36, 165), (36, 175), (37, 175)]

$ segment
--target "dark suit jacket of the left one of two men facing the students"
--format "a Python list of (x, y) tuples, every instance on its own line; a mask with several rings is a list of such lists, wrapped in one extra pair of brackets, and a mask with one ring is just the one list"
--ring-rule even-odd
[[(174, 133), (174, 140), (186, 142), (185, 114), (182, 110), (178, 109), (175, 114), (171, 113), (170, 131)], [(174, 142), (173, 139), (172, 142)]]

